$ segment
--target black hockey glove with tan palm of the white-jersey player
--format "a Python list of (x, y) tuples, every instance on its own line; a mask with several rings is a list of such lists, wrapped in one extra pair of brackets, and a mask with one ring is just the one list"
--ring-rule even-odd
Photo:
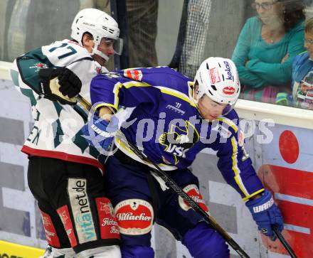
[(47, 68), (38, 72), (41, 90), (48, 100), (58, 100), (61, 104), (76, 104), (82, 82), (68, 68)]

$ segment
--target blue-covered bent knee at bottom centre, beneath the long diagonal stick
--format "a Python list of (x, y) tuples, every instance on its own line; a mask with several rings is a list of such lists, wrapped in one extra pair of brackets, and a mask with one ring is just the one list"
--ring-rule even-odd
[(209, 227), (206, 222), (200, 222), (186, 232), (182, 243), (194, 258), (228, 258), (230, 255), (223, 237)]

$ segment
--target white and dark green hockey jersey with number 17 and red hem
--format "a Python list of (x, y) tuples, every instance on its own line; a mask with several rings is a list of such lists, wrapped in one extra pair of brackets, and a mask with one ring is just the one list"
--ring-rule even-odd
[(99, 152), (90, 147), (80, 129), (87, 114), (79, 104), (60, 104), (43, 97), (38, 71), (66, 66), (82, 82), (82, 95), (90, 102), (90, 81), (99, 72), (107, 72), (85, 48), (67, 39), (32, 50), (14, 60), (11, 77), (16, 88), (31, 100), (33, 129), (22, 151), (28, 155), (59, 158), (102, 168)]

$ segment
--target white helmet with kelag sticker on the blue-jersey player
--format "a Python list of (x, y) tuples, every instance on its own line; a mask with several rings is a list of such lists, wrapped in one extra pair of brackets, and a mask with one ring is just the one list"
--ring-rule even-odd
[(194, 78), (194, 85), (198, 84), (194, 102), (206, 95), (220, 104), (227, 104), (225, 112), (228, 113), (240, 94), (240, 81), (237, 68), (228, 58), (207, 58), (201, 63)]

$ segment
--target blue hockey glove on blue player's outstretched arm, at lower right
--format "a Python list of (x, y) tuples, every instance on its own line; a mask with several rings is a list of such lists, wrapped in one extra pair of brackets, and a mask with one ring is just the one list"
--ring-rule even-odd
[(275, 240), (275, 234), (272, 231), (272, 225), (277, 225), (278, 230), (282, 231), (284, 221), (280, 209), (274, 203), (272, 193), (265, 189), (264, 195), (255, 200), (248, 200), (245, 205), (250, 210), (253, 220), (258, 225), (258, 229), (267, 237), (272, 237)]

